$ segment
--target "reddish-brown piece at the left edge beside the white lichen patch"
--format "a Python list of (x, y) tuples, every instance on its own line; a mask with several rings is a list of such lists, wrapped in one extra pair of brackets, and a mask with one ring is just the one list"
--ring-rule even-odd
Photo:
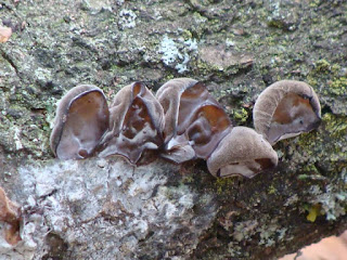
[(4, 238), (14, 246), (22, 240), (20, 235), (21, 208), (11, 202), (3, 188), (0, 186), (0, 221), (5, 222)]

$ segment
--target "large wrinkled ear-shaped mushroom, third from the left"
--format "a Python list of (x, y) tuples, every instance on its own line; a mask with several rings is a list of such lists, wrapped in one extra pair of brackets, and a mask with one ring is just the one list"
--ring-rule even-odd
[(190, 78), (169, 80), (156, 96), (165, 114), (165, 153), (177, 164), (207, 159), (228, 133), (231, 121), (206, 87)]

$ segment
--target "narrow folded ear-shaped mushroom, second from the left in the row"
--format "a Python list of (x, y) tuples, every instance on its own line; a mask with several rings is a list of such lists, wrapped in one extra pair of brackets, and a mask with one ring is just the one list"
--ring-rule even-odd
[(110, 113), (110, 130), (98, 147), (100, 157), (120, 155), (137, 164), (144, 151), (163, 145), (163, 107), (143, 83), (124, 87)]

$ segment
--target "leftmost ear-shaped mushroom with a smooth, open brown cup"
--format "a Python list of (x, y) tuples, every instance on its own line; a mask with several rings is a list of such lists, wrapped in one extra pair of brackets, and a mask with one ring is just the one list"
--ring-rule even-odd
[(102, 90), (80, 84), (59, 102), (50, 143), (60, 159), (90, 157), (108, 128), (110, 112)]

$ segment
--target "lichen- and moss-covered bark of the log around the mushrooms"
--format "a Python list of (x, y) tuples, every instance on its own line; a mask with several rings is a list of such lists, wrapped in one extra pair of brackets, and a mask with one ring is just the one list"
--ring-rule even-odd
[[(0, 185), (24, 205), (21, 253), (271, 259), (347, 227), (346, 1), (2, 0), (0, 17), (13, 29), (0, 43)], [(279, 167), (252, 180), (214, 179), (203, 161), (133, 170), (110, 159), (97, 170), (98, 159), (53, 159), (48, 140), (66, 90), (93, 83), (111, 100), (131, 81), (155, 91), (182, 76), (204, 81), (248, 127), (266, 86), (304, 80), (323, 122), (278, 143)], [(140, 212), (142, 196), (156, 211)]]

